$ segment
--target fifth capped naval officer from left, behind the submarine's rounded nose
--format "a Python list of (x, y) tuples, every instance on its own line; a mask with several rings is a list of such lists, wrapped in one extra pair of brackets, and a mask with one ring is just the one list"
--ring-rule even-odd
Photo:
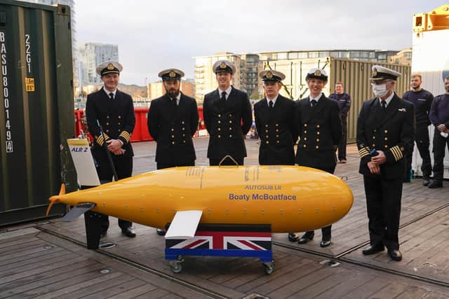
[[(300, 137), (295, 163), (333, 174), (337, 165), (335, 150), (342, 138), (340, 107), (337, 102), (329, 99), (322, 92), (328, 82), (326, 71), (311, 69), (307, 73), (306, 81), (310, 95), (295, 103), (297, 130)], [(321, 228), (321, 247), (330, 245), (331, 228), (331, 225)], [(298, 240), (299, 244), (306, 244), (314, 238), (314, 235), (312, 230), (298, 239), (297, 234), (290, 233), (288, 239), (292, 242)]]

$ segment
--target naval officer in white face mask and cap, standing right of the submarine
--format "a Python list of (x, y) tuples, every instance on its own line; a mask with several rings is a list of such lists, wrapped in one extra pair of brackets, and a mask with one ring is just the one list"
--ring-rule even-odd
[(401, 76), (393, 69), (373, 66), (374, 99), (363, 102), (357, 120), (358, 172), (363, 174), (370, 246), (364, 255), (387, 246), (392, 260), (401, 260), (398, 230), (401, 216), (404, 155), (412, 151), (415, 137), (415, 106), (396, 95)]

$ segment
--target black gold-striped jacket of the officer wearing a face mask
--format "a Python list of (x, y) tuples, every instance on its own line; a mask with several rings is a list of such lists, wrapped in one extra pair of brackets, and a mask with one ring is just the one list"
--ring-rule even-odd
[[(363, 102), (357, 120), (357, 146), (360, 154), (358, 172), (373, 178), (403, 179), (404, 155), (413, 150), (415, 136), (415, 106), (396, 94), (382, 111), (376, 97)], [(380, 165), (380, 174), (371, 174), (370, 151), (384, 151), (387, 162)]]

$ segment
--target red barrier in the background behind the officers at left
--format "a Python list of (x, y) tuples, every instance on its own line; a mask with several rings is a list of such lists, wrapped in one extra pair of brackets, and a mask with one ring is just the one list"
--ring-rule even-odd
[[(154, 140), (152, 135), (148, 132), (148, 126), (147, 126), (147, 114), (148, 114), (148, 108), (135, 108), (135, 126), (133, 134), (131, 135), (131, 142), (138, 142), (138, 141), (151, 141)], [(199, 130), (206, 129), (206, 125), (204, 124), (204, 117), (203, 117), (203, 107), (198, 107), (198, 115), (199, 115), (199, 124), (198, 128)], [(81, 134), (81, 130), (83, 130), (84, 134), (93, 141), (93, 138), (91, 134), (88, 132), (88, 127), (86, 123), (86, 116), (84, 116), (84, 110), (83, 109), (77, 109), (75, 110), (75, 136), (78, 137), (79, 134)]]

